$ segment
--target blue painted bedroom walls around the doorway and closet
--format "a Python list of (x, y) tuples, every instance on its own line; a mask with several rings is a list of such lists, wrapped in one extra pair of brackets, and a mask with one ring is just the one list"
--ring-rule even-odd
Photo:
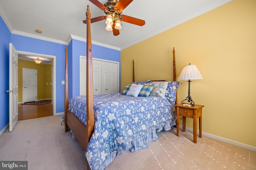
[[(12, 34), (2, 18), (0, 18), (0, 35), (0, 103), (2, 105), (0, 130), (9, 123), (9, 94), (6, 92), (9, 88), (9, 43), (12, 43), (18, 51), (56, 56), (56, 113), (64, 112), (65, 86), (61, 82), (65, 80), (65, 45)], [(93, 58), (120, 63), (120, 51), (118, 50), (92, 45), (92, 51)], [(80, 55), (86, 56), (86, 42), (72, 39), (68, 45), (69, 98), (79, 95)]]

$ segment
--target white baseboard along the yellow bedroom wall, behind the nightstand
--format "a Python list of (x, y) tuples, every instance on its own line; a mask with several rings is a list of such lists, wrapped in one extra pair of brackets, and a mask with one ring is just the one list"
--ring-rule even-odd
[[(180, 129), (182, 129), (182, 125), (180, 125)], [(190, 127), (186, 127), (186, 130), (188, 130), (190, 132), (193, 132), (193, 129), (190, 128)], [(199, 134), (199, 130), (197, 131), (197, 134)], [(227, 139), (227, 138), (220, 137), (220, 136), (217, 136), (217, 135), (212, 135), (212, 134), (206, 133), (206, 132), (202, 132), (202, 135), (204, 135), (206, 137), (210, 137), (212, 139), (216, 139), (216, 140), (219, 140), (219, 141), (222, 141), (222, 142), (226, 142), (226, 143), (236, 145), (238, 147), (241, 147), (241, 148), (244, 148), (244, 149), (249, 149), (249, 150), (252, 150), (252, 151), (256, 152), (256, 147), (254, 147), (252, 145), (247, 145), (245, 143), (240, 143), (240, 142), (237, 142), (237, 141), (233, 141), (231, 139)]]

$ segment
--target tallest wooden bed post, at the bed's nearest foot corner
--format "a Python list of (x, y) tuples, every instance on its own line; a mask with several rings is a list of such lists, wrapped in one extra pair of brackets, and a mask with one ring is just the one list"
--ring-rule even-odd
[(94, 131), (94, 98), (93, 98), (93, 77), (92, 77), (92, 39), (91, 39), (91, 13), (89, 5), (86, 11), (86, 149)]

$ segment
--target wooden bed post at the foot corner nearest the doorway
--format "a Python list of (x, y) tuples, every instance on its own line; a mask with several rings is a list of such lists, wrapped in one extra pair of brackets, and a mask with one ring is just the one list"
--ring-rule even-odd
[(68, 109), (68, 47), (66, 45), (65, 48), (66, 52), (66, 63), (65, 63), (65, 132), (68, 131), (68, 124), (67, 124), (67, 109)]

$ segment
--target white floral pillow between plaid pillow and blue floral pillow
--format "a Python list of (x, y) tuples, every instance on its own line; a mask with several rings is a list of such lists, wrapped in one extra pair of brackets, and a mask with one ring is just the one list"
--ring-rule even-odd
[(144, 85), (154, 85), (154, 88), (150, 93), (150, 96), (160, 96), (164, 98), (166, 93), (166, 88), (168, 86), (168, 82), (152, 82), (152, 83), (146, 83)]

